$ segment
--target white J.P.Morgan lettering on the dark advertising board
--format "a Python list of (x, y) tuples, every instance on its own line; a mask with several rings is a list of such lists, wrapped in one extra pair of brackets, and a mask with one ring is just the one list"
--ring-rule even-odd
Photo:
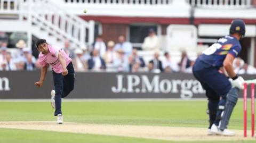
[[(197, 80), (160, 79), (154, 75), (150, 81), (147, 75), (116, 75), (117, 87), (111, 88), (114, 93), (163, 93), (179, 94), (181, 98), (191, 98), (194, 94), (203, 94), (205, 90)], [(124, 82), (127, 82), (124, 83)], [(126, 86), (127, 87), (126, 87)]]

